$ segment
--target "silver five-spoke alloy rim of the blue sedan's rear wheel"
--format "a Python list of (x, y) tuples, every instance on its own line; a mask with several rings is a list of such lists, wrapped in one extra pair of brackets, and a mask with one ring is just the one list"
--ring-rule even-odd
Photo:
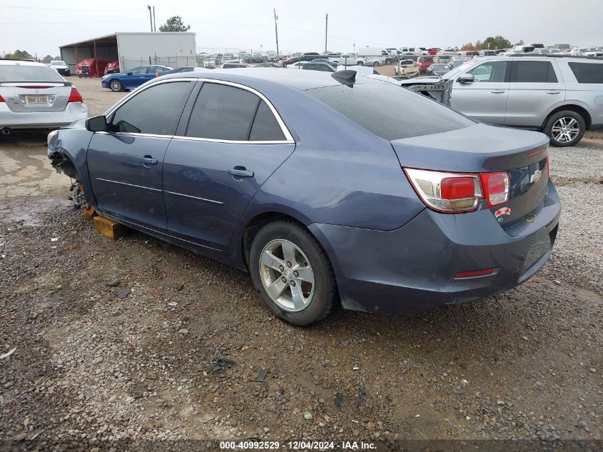
[(260, 279), (270, 299), (285, 311), (302, 311), (314, 295), (314, 272), (303, 251), (288, 240), (270, 241), (260, 253)]

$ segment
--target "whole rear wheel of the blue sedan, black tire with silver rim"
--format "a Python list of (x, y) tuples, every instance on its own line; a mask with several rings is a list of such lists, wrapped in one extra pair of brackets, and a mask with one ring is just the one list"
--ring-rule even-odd
[(293, 221), (260, 229), (251, 244), (253, 284), (276, 316), (295, 326), (322, 320), (335, 303), (337, 284), (316, 238)]

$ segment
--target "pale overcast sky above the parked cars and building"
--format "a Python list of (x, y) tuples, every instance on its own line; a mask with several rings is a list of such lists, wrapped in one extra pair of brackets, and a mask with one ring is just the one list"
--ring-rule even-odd
[(182, 16), (204, 49), (275, 50), (274, 8), (279, 49), (286, 51), (324, 51), (325, 14), (330, 51), (352, 51), (354, 44), (461, 46), (497, 34), (512, 43), (603, 46), (602, 0), (0, 0), (0, 53), (56, 56), (62, 44), (149, 31), (149, 1), (157, 29)]

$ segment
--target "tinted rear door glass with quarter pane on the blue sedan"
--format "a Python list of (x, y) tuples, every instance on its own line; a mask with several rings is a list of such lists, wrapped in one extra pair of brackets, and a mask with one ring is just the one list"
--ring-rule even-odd
[(199, 92), (186, 136), (228, 141), (283, 140), (272, 111), (245, 89), (204, 83)]

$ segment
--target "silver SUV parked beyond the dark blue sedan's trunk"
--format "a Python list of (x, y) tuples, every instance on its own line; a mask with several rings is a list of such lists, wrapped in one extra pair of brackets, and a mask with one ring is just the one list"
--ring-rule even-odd
[(602, 58), (475, 58), (441, 79), (402, 86), (479, 121), (542, 131), (553, 146), (574, 146), (587, 129), (603, 127)]

